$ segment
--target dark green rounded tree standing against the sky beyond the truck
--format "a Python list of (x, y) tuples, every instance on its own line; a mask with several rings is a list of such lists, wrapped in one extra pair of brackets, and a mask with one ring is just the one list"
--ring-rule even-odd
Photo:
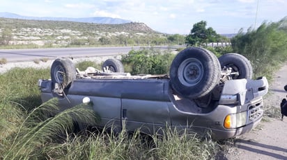
[(216, 42), (220, 35), (217, 35), (213, 28), (206, 28), (206, 26), (206, 21), (199, 21), (198, 23), (194, 24), (189, 35), (185, 37), (186, 42), (191, 45)]

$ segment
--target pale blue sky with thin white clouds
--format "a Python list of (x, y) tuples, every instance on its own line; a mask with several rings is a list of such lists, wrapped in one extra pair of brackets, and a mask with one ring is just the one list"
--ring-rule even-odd
[(34, 17), (113, 17), (160, 33), (188, 35), (206, 21), (219, 34), (257, 28), (287, 16), (287, 0), (0, 0), (0, 12)]

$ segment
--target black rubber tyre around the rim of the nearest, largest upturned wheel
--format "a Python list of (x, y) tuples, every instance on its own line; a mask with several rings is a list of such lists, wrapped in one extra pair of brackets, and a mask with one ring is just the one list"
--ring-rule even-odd
[[(187, 87), (178, 80), (178, 67), (181, 62), (189, 57), (201, 58), (203, 68), (205, 70), (201, 82), (192, 87)], [(178, 55), (173, 59), (170, 69), (170, 82), (171, 87), (176, 91), (176, 94), (195, 99), (209, 94), (212, 89), (219, 84), (220, 75), (221, 68), (219, 60), (212, 52), (205, 48), (190, 47), (180, 51), (180, 53), (178, 53)]]

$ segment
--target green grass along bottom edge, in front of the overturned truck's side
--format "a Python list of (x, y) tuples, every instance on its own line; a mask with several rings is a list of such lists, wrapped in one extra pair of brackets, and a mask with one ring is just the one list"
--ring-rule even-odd
[(145, 135), (139, 130), (128, 134), (92, 133), (74, 136), (54, 145), (49, 157), (54, 159), (214, 159), (218, 144), (199, 139), (196, 134), (179, 134), (168, 128), (166, 134)]

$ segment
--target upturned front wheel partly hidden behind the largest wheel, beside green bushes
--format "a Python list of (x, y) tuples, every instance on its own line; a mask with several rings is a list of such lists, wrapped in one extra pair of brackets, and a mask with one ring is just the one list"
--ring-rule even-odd
[(235, 79), (251, 79), (253, 75), (252, 66), (249, 60), (238, 53), (227, 53), (219, 57), (222, 69), (231, 68), (231, 77)]

